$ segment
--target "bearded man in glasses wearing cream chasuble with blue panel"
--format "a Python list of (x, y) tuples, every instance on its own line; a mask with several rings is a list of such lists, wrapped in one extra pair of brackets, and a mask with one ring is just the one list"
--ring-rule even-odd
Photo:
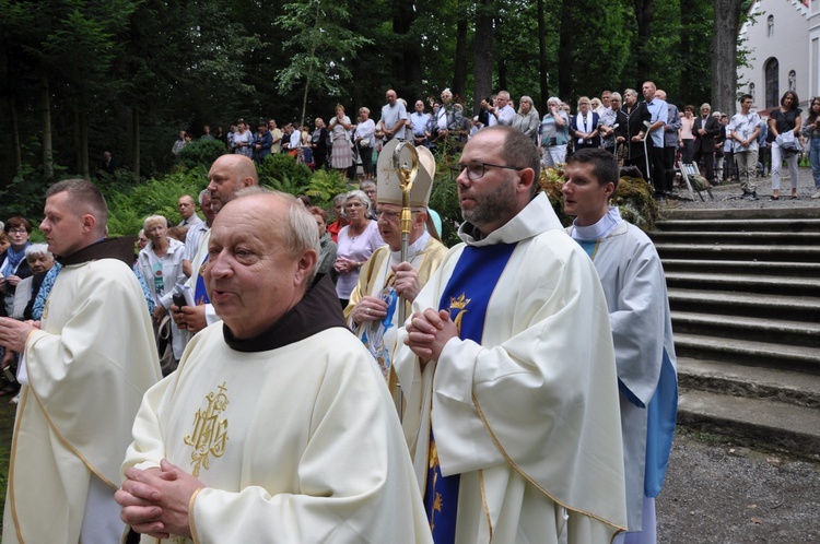
[(536, 197), (539, 169), (512, 127), (467, 143), (465, 244), (399, 331), (405, 435), (436, 542), (598, 543), (625, 528), (606, 300)]

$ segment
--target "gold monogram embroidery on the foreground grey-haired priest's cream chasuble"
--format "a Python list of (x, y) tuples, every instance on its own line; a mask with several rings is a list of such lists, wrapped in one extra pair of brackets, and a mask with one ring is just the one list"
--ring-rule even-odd
[(230, 403), (226, 391), (227, 387), (223, 381), (219, 387), (219, 392), (211, 391), (206, 395), (208, 406), (204, 410), (197, 410), (194, 416), (194, 433), (184, 439), (185, 444), (194, 447), (190, 454), (194, 476), (199, 476), (201, 468), (209, 468), (209, 456), (222, 457), (225, 452), (227, 419), (220, 419), (220, 415)]

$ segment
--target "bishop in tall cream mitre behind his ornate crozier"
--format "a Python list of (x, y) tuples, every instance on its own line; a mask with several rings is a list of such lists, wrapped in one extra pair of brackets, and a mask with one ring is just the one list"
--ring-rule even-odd
[(398, 322), (398, 305), (410, 308), (447, 250), (425, 228), (435, 157), (426, 147), (417, 147), (420, 168), (410, 192), (412, 224), (407, 260), (401, 260), (401, 185), (391, 164), (397, 144), (388, 143), (378, 157), (376, 218), (387, 246), (377, 249), (362, 265), (359, 285), (344, 310), (348, 326), (367, 346), (385, 378), (389, 376), (396, 331), (402, 324)]

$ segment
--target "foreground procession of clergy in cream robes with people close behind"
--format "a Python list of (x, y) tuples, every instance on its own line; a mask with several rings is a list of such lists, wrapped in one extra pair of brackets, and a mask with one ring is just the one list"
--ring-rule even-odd
[[(10, 218), (3, 542), (656, 542), (677, 407), (659, 258), (608, 205), (591, 100), (569, 229), (537, 190), (534, 105), (505, 126), (505, 100), (455, 167), (450, 249), (435, 156), (389, 123), (375, 179), (330, 216), (230, 153), (136, 240), (106, 236), (84, 180), (49, 189), (47, 248)], [(394, 159), (413, 154), (405, 194)]]

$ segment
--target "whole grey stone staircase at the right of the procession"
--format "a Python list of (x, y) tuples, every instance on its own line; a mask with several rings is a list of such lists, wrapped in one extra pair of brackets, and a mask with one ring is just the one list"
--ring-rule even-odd
[(820, 208), (670, 210), (652, 238), (678, 423), (820, 459)]

